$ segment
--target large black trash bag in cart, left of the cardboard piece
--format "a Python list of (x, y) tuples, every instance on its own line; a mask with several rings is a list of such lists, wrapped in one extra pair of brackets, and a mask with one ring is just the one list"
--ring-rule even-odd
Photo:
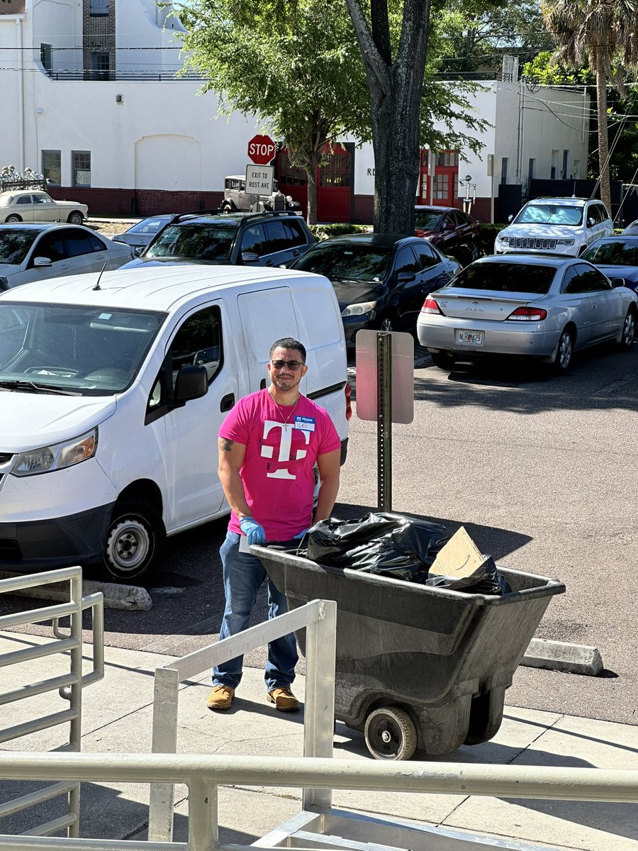
[(332, 567), (423, 582), (448, 537), (438, 523), (379, 512), (316, 523), (299, 555)]

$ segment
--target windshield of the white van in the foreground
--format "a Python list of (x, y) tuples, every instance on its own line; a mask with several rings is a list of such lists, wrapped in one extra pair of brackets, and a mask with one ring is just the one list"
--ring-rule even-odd
[(166, 316), (0, 299), (0, 392), (121, 392), (138, 374)]

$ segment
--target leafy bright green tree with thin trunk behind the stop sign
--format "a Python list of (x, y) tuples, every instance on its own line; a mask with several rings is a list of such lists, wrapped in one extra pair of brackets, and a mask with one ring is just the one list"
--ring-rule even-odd
[(219, 113), (255, 115), (288, 147), (308, 178), (308, 220), (316, 222), (316, 170), (326, 143), (366, 123), (362, 66), (345, 14), (331, 0), (254, 4), (191, 0), (185, 68), (207, 74), (202, 92)]

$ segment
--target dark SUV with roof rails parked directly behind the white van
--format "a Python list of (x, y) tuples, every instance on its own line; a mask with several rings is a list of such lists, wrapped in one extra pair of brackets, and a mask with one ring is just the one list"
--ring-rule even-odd
[(289, 265), (315, 243), (305, 221), (287, 211), (182, 213), (122, 269), (160, 263)]

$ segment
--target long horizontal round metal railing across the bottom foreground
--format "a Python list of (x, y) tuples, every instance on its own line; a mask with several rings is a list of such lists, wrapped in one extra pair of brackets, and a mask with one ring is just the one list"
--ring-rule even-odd
[[(211, 848), (216, 851), (254, 851), (251, 845), (217, 844), (219, 785), (312, 786), (328, 794), (333, 789), (359, 789), (550, 801), (638, 802), (638, 770), (472, 765), (464, 762), (437, 765), (431, 762), (362, 762), (320, 757), (3, 753), (0, 754), (0, 778), (185, 784), (189, 792), (188, 842), (128, 840), (125, 843), (127, 851), (210, 851)], [(405, 827), (405, 822), (402, 824)], [(397, 830), (401, 831), (399, 825)], [(464, 846), (460, 840), (444, 842), (443, 837), (440, 838), (441, 843), (431, 842), (428, 847), (433, 851), (436, 848), (468, 847), (468, 843)], [(326, 847), (330, 845), (326, 843)], [(499, 840), (492, 847), (507, 848), (507, 845)], [(300, 851), (296, 843), (294, 848)], [(122, 851), (122, 841), (0, 836), (0, 851), (43, 849)]]

